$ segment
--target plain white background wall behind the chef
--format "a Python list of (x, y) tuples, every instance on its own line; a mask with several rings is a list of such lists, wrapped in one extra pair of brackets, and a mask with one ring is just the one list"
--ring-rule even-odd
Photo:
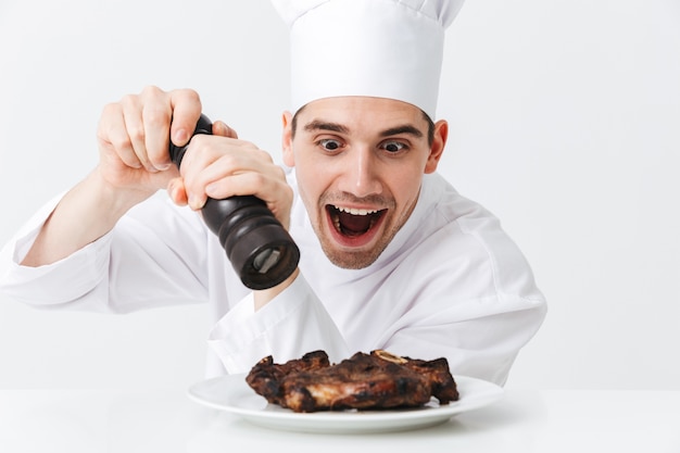
[[(279, 159), (287, 58), (264, 0), (0, 0), (0, 243), (93, 167), (102, 106), (146, 85), (197, 89)], [(449, 30), (441, 171), (501, 217), (550, 302), (508, 387), (680, 390), (679, 80), (677, 0), (469, 0)], [(209, 327), (205, 306), (0, 294), (0, 387), (186, 386)]]

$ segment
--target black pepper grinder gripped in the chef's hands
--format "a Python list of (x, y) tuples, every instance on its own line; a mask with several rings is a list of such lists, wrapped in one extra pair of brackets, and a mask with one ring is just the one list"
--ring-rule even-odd
[[(193, 135), (213, 133), (212, 122), (201, 115)], [(179, 167), (187, 146), (171, 140), (169, 154)], [(288, 278), (300, 261), (300, 250), (264, 201), (253, 196), (224, 200), (209, 198), (201, 211), (207, 227), (219, 238), (243, 285), (267, 289)]]

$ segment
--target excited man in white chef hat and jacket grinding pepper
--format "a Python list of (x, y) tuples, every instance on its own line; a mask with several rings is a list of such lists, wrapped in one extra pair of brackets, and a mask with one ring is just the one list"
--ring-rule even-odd
[[(0, 290), (114, 313), (207, 302), (207, 376), (385, 349), (504, 383), (545, 302), (499, 221), (437, 173), (444, 33), (462, 3), (274, 0), (290, 26), (287, 169), (223, 122), (191, 139), (192, 90), (126, 96), (103, 110), (98, 166), (7, 246)], [(189, 143), (180, 171), (168, 137)], [(273, 288), (247, 288), (198, 213), (235, 194), (265, 201), (300, 249)]]

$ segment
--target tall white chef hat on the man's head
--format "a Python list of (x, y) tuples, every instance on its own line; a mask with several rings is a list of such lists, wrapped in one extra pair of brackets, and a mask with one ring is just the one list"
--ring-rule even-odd
[(396, 99), (435, 119), (444, 30), (464, 0), (272, 0), (290, 26), (293, 112), (338, 96)]

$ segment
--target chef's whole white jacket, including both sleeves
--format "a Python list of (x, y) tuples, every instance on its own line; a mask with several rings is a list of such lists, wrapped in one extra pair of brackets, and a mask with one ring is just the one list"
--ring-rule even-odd
[[(294, 171), (288, 177), (297, 191)], [(284, 362), (325, 350), (339, 362), (386, 349), (446, 357), (454, 376), (503, 385), (545, 316), (531, 269), (499, 221), (438, 174), (425, 175), (413, 214), (363, 269), (328, 261), (295, 196), (290, 234), (301, 273), (257, 312), (216, 236), (165, 192), (64, 260), (18, 265), (55, 203), (5, 246), (0, 290), (35, 306), (113, 313), (207, 302), (206, 377), (245, 373), (269, 354)]]

